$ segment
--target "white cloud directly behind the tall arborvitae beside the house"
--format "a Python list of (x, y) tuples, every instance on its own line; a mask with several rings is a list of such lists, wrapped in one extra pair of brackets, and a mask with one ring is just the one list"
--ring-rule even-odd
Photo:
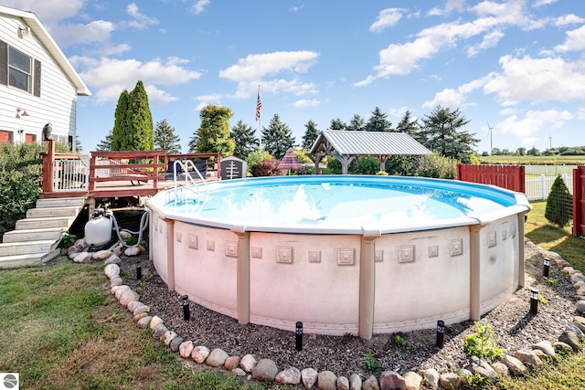
[[(122, 90), (133, 90), (136, 80), (144, 82), (149, 101), (165, 104), (176, 100), (157, 86), (185, 84), (191, 79), (199, 79), (201, 74), (185, 68), (188, 63), (181, 58), (167, 58), (165, 61), (155, 58), (148, 62), (136, 59), (112, 58), (74, 58), (75, 63), (86, 69), (80, 72), (94, 97), (100, 101), (117, 100)], [(152, 95), (151, 95), (152, 93)]]

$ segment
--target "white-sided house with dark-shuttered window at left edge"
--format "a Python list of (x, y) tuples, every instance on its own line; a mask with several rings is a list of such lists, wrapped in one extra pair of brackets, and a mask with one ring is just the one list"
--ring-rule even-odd
[(75, 142), (78, 96), (90, 90), (38, 17), (0, 5), (0, 143)]

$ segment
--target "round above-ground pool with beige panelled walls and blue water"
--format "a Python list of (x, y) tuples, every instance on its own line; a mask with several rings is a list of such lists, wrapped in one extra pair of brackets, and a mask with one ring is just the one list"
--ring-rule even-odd
[(154, 196), (169, 289), (238, 319), (369, 338), (479, 320), (524, 286), (523, 194), (454, 180), (303, 175)]

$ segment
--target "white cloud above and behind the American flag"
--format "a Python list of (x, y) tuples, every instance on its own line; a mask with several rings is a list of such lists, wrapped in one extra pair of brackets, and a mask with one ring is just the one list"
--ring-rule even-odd
[[(273, 93), (290, 92), (300, 96), (316, 93), (312, 83), (296, 79), (311, 68), (319, 53), (314, 51), (276, 51), (266, 54), (250, 54), (240, 58), (236, 65), (219, 71), (221, 79), (238, 82), (236, 97), (245, 99), (261, 84), (262, 90)], [(292, 79), (270, 79), (289, 75)]]

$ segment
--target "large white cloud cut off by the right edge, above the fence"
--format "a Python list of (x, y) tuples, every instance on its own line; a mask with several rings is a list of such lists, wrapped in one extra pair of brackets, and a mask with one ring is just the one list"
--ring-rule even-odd
[(529, 56), (504, 56), (499, 62), (502, 72), (488, 76), (484, 92), (495, 93), (504, 105), (522, 100), (585, 100), (585, 62)]

